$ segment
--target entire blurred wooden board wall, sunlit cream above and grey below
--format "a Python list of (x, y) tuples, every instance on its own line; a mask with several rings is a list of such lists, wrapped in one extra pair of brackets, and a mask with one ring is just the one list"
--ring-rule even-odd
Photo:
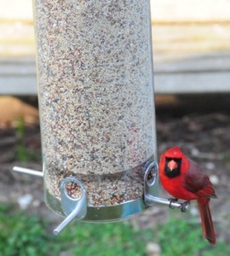
[[(25, 14), (1, 6), (0, 94), (36, 95), (31, 1)], [(228, 0), (151, 0), (157, 94), (230, 92), (229, 10)]]

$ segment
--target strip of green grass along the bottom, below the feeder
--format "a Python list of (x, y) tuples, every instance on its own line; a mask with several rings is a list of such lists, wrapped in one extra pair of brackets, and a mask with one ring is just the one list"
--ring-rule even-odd
[(59, 236), (52, 235), (49, 228), (46, 219), (0, 205), (0, 255), (145, 256), (148, 241), (160, 245), (161, 256), (230, 255), (225, 241), (212, 247), (201, 236), (198, 225), (178, 218), (145, 231), (122, 222), (72, 223)]

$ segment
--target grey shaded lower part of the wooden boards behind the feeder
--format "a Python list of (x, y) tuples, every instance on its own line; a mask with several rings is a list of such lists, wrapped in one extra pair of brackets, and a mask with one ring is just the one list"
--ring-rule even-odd
[[(230, 92), (230, 51), (155, 63), (154, 80), (157, 94)], [(0, 61), (0, 94), (37, 94), (33, 58)]]

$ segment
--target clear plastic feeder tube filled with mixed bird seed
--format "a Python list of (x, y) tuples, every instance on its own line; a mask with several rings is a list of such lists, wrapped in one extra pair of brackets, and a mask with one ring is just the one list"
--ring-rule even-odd
[(141, 212), (156, 158), (149, 0), (36, 0), (34, 13), (48, 206), (64, 215), (60, 181), (78, 177), (86, 220)]

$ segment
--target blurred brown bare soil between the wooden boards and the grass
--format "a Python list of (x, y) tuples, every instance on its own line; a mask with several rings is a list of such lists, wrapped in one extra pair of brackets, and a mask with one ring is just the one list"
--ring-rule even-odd
[[(158, 154), (166, 148), (178, 145), (203, 167), (216, 189), (217, 200), (210, 203), (217, 235), (230, 237), (230, 104), (229, 96), (161, 96), (157, 97)], [(25, 100), (25, 99), (24, 99)], [(37, 104), (36, 99), (27, 99)], [(21, 162), (19, 145), (24, 145), (31, 160)], [(61, 218), (50, 212), (43, 200), (43, 179), (12, 172), (13, 166), (42, 169), (39, 125), (25, 128), (21, 139), (17, 128), (0, 130), (0, 202), (18, 204), (25, 195), (31, 196), (28, 212), (37, 212), (50, 218), (54, 224)], [(160, 189), (160, 196), (169, 195)], [(195, 215), (196, 205), (191, 211), (181, 213), (167, 207), (154, 206), (130, 220), (140, 229), (165, 222), (169, 212), (178, 212), (178, 219)], [(197, 218), (198, 219), (198, 218)], [(230, 241), (230, 240), (229, 240)]]

